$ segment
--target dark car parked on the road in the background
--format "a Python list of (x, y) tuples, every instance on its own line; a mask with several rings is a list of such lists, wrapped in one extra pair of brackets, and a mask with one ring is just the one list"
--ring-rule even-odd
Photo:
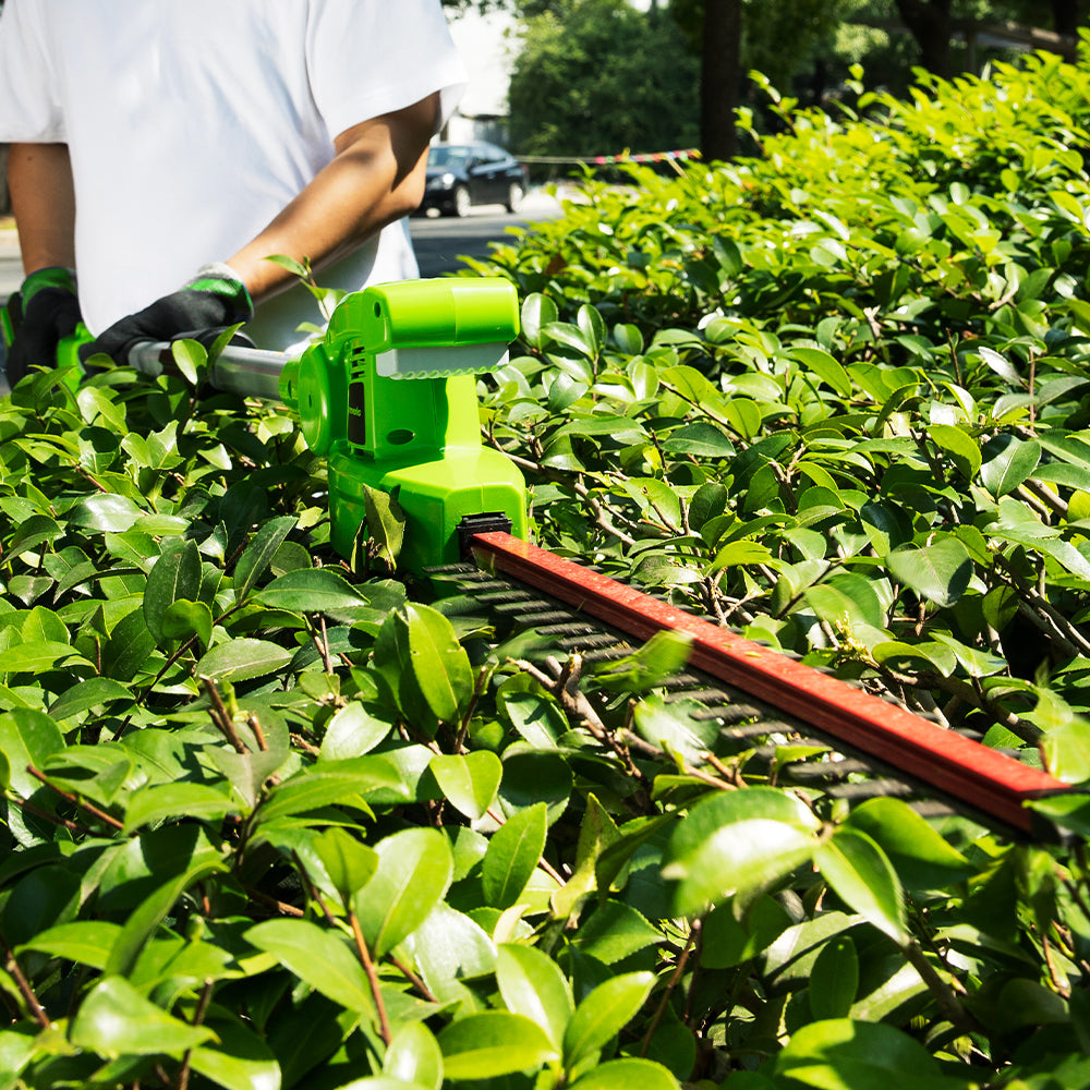
[(465, 216), (476, 204), (518, 211), (526, 195), (526, 168), (495, 144), (433, 144), (420, 210)]

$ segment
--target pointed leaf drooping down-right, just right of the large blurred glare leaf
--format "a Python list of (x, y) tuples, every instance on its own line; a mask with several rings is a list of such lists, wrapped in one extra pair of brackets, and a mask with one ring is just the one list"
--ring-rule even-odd
[(849, 908), (885, 932), (908, 942), (900, 881), (885, 852), (865, 834), (840, 826), (814, 851), (822, 876)]

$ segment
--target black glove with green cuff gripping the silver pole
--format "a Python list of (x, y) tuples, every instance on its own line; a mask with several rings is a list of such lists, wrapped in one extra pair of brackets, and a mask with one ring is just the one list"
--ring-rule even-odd
[(205, 265), (178, 291), (114, 322), (80, 349), (80, 359), (105, 352), (114, 362), (125, 364), (129, 350), (140, 341), (171, 341), (180, 337), (207, 340), (206, 335), (215, 337), (228, 326), (249, 322), (253, 316), (250, 292), (234, 270), (229, 265)]

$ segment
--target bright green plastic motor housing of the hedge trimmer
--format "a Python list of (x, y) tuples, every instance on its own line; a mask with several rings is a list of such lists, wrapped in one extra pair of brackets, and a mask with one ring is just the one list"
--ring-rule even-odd
[(473, 377), (506, 361), (518, 331), (507, 280), (402, 281), (347, 296), (325, 339), (284, 368), (281, 396), (310, 448), (328, 459), (342, 556), (366, 522), (366, 487), (404, 511), (401, 566), (410, 570), (457, 561), (467, 516), (501, 514), (525, 538), (525, 482), (482, 446)]

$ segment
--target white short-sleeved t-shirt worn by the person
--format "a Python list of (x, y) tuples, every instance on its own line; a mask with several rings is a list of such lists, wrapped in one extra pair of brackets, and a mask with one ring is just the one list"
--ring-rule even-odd
[[(66, 143), (76, 267), (93, 332), (226, 261), (314, 178), (352, 125), (465, 73), (440, 0), (7, 0), (0, 141)], [(323, 287), (416, 275), (407, 225), (323, 269)], [(320, 323), (296, 286), (251, 336)]]

